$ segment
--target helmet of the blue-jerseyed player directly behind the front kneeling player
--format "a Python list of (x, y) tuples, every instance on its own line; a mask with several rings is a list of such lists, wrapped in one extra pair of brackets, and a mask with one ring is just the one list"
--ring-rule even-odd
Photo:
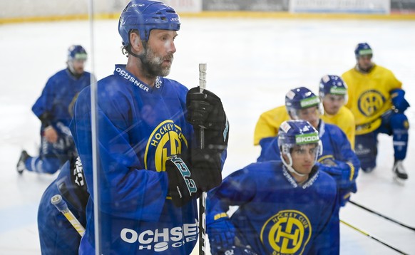
[(285, 108), (293, 119), (298, 118), (298, 110), (317, 106), (319, 113), (322, 113), (322, 105), (319, 97), (311, 90), (304, 87), (293, 88), (285, 95)]

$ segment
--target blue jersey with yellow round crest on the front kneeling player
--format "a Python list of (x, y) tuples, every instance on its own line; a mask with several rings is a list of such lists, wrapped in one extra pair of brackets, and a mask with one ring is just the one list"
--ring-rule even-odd
[(239, 206), (230, 218), (236, 236), (257, 254), (339, 254), (336, 189), (325, 172), (297, 184), (282, 162), (257, 162), (208, 192), (207, 225)]

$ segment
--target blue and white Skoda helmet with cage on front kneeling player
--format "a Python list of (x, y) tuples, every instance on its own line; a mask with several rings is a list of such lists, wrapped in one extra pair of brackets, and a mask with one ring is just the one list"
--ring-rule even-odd
[[(294, 146), (302, 145), (316, 145), (316, 155), (314, 164), (317, 158), (322, 155), (323, 147), (319, 137), (319, 132), (306, 120), (287, 120), (280, 125), (278, 131), (278, 147), (280, 147), (280, 157), (282, 163), (290, 172), (303, 176), (292, 168), (291, 149)], [(289, 162), (285, 160), (282, 155), (286, 155)]]

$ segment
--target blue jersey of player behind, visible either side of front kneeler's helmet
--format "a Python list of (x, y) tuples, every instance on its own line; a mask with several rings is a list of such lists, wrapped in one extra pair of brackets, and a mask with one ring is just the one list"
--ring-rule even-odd
[[(344, 205), (349, 200), (349, 192), (357, 192), (356, 178), (360, 168), (360, 162), (356, 153), (352, 150), (350, 142), (344, 132), (337, 125), (327, 124), (320, 120), (319, 137), (323, 145), (323, 153), (319, 156), (318, 161), (324, 164), (329, 160), (338, 160), (349, 165), (350, 173), (347, 176), (349, 187), (342, 188), (339, 191), (339, 202)], [(272, 139), (262, 139), (260, 142), (262, 147), (261, 155), (257, 161), (281, 160), (280, 148), (278, 147), (278, 137)], [(327, 165), (320, 165), (323, 171), (329, 169)], [(330, 172), (329, 172), (330, 173)], [(331, 174), (331, 173), (330, 173)]]

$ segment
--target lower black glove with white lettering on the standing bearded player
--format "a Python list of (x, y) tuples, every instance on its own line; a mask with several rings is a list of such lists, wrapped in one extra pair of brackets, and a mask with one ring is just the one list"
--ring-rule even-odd
[(222, 182), (220, 153), (215, 150), (192, 150), (192, 164), (174, 155), (165, 163), (165, 170), (176, 207), (182, 207)]

